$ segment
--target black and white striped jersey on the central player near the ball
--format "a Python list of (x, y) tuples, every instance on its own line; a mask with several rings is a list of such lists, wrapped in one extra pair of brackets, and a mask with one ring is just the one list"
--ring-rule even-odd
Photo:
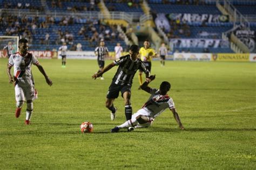
[(118, 66), (117, 72), (113, 77), (112, 83), (118, 85), (128, 85), (132, 86), (132, 79), (138, 69), (143, 70), (144, 73), (149, 73), (149, 70), (146, 69), (142, 60), (137, 59), (133, 61), (130, 58), (130, 54), (121, 56), (119, 59), (114, 60), (114, 65)]

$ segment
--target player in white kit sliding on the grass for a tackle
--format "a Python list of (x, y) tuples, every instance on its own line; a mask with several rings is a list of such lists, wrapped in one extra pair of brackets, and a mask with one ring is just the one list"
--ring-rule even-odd
[(159, 116), (161, 112), (169, 108), (172, 111), (174, 119), (179, 125), (180, 129), (184, 129), (179, 115), (175, 109), (174, 102), (171, 97), (167, 95), (167, 92), (171, 89), (171, 84), (167, 81), (163, 81), (160, 84), (159, 89), (150, 88), (147, 86), (156, 76), (151, 75), (149, 81), (142, 84), (142, 89), (151, 94), (149, 100), (143, 105), (143, 108), (138, 110), (136, 114), (132, 115), (132, 118), (111, 129), (111, 132), (118, 132), (120, 129), (128, 128), (128, 131), (134, 130), (134, 128), (147, 128), (149, 127), (154, 118)]

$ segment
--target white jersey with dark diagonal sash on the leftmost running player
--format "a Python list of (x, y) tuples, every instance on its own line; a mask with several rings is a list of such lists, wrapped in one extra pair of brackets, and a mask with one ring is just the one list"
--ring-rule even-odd
[[(9, 65), (14, 66), (14, 76), (17, 80), (27, 80), (31, 83), (31, 65), (37, 65), (38, 60), (31, 53), (22, 56), (19, 53), (12, 54), (9, 58)], [(23, 81), (24, 82), (24, 81)]]

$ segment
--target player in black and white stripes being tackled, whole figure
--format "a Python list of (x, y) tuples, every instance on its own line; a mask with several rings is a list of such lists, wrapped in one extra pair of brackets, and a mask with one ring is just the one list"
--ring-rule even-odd
[[(129, 53), (130, 54), (121, 56), (119, 59), (114, 60), (102, 71), (92, 75), (92, 78), (96, 79), (110, 70), (112, 67), (119, 66), (112, 79), (112, 83), (110, 84), (105, 103), (106, 108), (111, 110), (110, 116), (112, 121), (116, 118), (117, 111), (117, 108), (114, 107), (113, 102), (118, 97), (119, 91), (122, 93), (122, 97), (124, 98), (126, 120), (130, 120), (132, 117), (131, 87), (134, 74), (138, 69), (141, 69), (144, 73), (146, 73), (146, 77), (149, 77), (150, 75), (149, 70), (146, 69), (142, 60), (138, 59), (139, 47), (137, 45), (131, 45)], [(149, 81), (149, 79), (146, 78), (146, 81)]]

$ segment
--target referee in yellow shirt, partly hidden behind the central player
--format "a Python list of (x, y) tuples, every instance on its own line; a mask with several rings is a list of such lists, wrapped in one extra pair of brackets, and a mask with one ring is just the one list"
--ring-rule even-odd
[[(151, 59), (156, 58), (157, 54), (154, 52), (154, 49), (150, 47), (149, 40), (144, 41), (144, 47), (139, 49), (140, 59), (143, 61), (146, 68), (151, 72)], [(143, 70), (139, 70), (139, 85), (142, 85), (143, 78), (142, 78)], [(139, 90), (140, 90), (139, 86)]]

